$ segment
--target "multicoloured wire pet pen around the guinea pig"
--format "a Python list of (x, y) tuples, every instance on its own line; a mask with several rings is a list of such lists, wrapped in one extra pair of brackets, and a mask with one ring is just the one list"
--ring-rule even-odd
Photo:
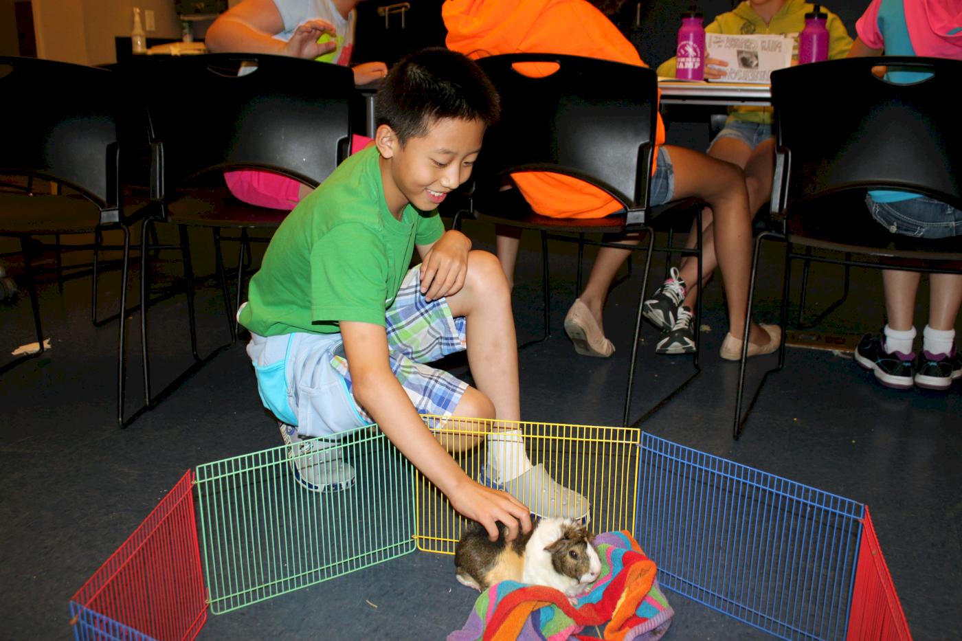
[[(636, 428), (424, 417), (483, 479), (486, 440), (517, 428), (532, 463), (589, 500), (596, 532), (632, 534), (665, 589), (786, 639), (910, 639), (868, 509)], [(191, 639), (215, 614), (412, 551), (453, 553), (465, 520), (376, 428), (328, 442), (356, 472), (302, 486), (282, 446), (185, 474), (70, 602), (77, 639)], [(315, 458), (312, 458), (315, 457)], [(327, 459), (325, 459), (327, 460)]]

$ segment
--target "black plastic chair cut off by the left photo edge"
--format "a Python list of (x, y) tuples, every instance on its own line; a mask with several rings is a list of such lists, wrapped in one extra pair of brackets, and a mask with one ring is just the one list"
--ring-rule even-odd
[[(54, 193), (0, 192), (0, 235), (18, 238), (24, 281), (30, 293), (40, 351), (8, 363), (7, 372), (43, 353), (43, 330), (35, 282), (37, 236), (123, 232), (120, 305), (97, 319), (97, 261), (93, 262), (92, 320), (117, 325), (117, 422), (123, 419), (124, 310), (130, 259), (130, 225), (142, 207), (124, 207), (118, 190), (122, 162), (117, 141), (120, 93), (112, 71), (31, 58), (0, 57), (0, 173), (49, 180)], [(63, 189), (62, 189), (63, 188)], [(87, 245), (85, 245), (87, 246)], [(96, 248), (99, 244), (91, 244)], [(129, 310), (128, 310), (129, 311)]]

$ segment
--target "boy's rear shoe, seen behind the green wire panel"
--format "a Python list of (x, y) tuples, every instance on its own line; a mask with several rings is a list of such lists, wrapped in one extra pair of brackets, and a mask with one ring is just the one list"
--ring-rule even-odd
[(342, 460), (342, 449), (337, 441), (312, 438), (306, 441), (297, 435), (297, 427), (278, 423), (281, 438), (288, 446), (291, 472), (305, 489), (312, 492), (340, 492), (354, 485), (354, 468)]

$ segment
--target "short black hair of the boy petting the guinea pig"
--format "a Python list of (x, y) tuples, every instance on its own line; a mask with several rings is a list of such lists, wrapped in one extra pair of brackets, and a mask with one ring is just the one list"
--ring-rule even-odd
[(402, 58), (374, 98), (377, 125), (390, 126), (402, 145), (425, 136), (440, 118), (491, 125), (500, 113), (497, 91), (481, 67), (443, 47), (421, 49)]

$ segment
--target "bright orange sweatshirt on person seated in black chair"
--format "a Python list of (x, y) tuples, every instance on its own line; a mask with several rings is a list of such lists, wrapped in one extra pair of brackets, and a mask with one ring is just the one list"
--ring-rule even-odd
[[(647, 66), (634, 45), (586, 0), (447, 0), (447, 48), (473, 59), (507, 53), (554, 53)], [(658, 115), (655, 142), (665, 142)], [(601, 218), (621, 209), (610, 195), (561, 174), (512, 176), (531, 208), (552, 218)]]

